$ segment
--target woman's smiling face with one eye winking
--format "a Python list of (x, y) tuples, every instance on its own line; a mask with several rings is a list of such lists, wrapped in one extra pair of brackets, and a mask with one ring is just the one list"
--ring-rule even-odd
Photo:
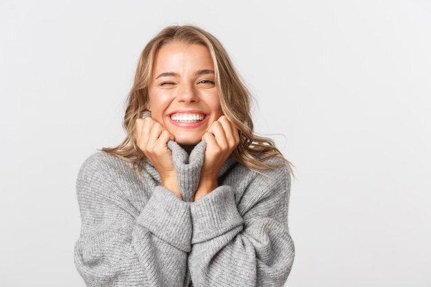
[(151, 118), (181, 145), (196, 145), (222, 116), (214, 64), (204, 45), (169, 43), (160, 47), (148, 94)]

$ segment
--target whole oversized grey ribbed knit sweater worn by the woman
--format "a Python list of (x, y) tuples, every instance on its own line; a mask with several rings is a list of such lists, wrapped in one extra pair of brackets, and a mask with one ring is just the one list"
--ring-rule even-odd
[(283, 286), (295, 254), (287, 167), (263, 176), (231, 157), (219, 187), (193, 202), (205, 143), (190, 156), (176, 142), (168, 147), (183, 200), (160, 186), (150, 162), (140, 178), (104, 152), (85, 160), (74, 256), (87, 286)]

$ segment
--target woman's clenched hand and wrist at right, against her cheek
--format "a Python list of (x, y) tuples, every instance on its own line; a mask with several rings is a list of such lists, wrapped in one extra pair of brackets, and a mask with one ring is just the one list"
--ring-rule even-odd
[(207, 143), (204, 164), (200, 171), (200, 182), (195, 194), (195, 201), (218, 187), (217, 175), (233, 149), (240, 143), (238, 129), (226, 116), (220, 116), (211, 124), (202, 140)]

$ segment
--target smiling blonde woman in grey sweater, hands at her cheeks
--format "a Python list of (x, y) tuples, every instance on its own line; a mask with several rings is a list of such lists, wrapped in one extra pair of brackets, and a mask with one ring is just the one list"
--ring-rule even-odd
[(171, 26), (140, 56), (126, 139), (76, 184), (87, 286), (283, 286), (289, 163), (253, 135), (249, 92), (214, 36)]

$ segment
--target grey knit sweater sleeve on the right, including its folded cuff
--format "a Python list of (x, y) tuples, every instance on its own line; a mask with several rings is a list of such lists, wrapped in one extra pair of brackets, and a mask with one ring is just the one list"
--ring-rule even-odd
[(284, 285), (295, 253), (287, 226), (288, 169), (254, 176), (238, 173), (240, 184), (228, 181), (191, 204), (193, 286)]

